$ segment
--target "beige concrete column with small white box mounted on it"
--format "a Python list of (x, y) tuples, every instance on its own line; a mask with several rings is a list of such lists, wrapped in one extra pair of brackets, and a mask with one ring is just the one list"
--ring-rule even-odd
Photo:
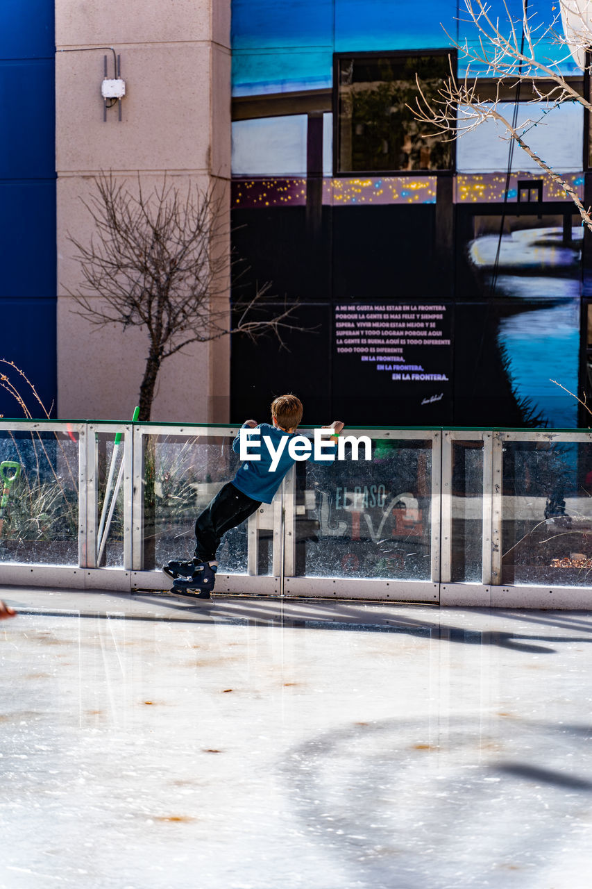
[[(95, 329), (68, 291), (81, 269), (68, 233), (90, 239), (82, 201), (92, 177), (112, 171), (130, 188), (167, 180), (219, 182), (229, 208), (230, 0), (56, 0), (58, 172), (58, 412), (62, 419), (127, 420), (138, 403), (148, 334), (117, 324)], [(103, 122), (104, 56), (113, 47), (126, 84)], [(60, 52), (87, 50), (94, 52)], [(100, 299), (100, 296), (97, 296)], [(224, 297), (222, 305), (228, 305)], [(228, 338), (165, 360), (152, 420), (228, 421)]]

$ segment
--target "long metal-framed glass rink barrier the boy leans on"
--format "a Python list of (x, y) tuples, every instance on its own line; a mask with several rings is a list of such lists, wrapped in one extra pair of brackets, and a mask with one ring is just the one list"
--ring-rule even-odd
[[(192, 557), (238, 430), (0, 420), (0, 583), (170, 589), (160, 568)], [(340, 443), (226, 534), (215, 593), (592, 606), (592, 432), (347, 428)]]

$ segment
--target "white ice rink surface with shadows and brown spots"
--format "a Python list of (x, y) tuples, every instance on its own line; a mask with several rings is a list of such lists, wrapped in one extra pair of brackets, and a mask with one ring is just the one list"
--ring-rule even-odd
[(2, 596), (2, 889), (590, 886), (592, 613)]

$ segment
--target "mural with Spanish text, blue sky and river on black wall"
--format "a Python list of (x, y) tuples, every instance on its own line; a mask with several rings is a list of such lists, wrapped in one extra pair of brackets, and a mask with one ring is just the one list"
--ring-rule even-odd
[[(500, 0), (492, 14), (503, 18)], [(235, 341), (233, 416), (267, 411), (273, 366), (274, 391), (354, 424), (577, 425), (577, 403), (550, 382), (579, 388), (572, 203), (517, 148), (508, 171), (494, 125), (451, 145), (407, 108), (416, 72), (428, 90), (446, 74), (440, 23), (472, 39), (459, 19), (449, 0), (420, 11), (409, 0), (234, 0), (236, 251), (293, 303), (302, 330), (290, 351)], [(571, 58), (561, 68), (577, 74)], [(580, 105), (526, 127), (583, 197)]]

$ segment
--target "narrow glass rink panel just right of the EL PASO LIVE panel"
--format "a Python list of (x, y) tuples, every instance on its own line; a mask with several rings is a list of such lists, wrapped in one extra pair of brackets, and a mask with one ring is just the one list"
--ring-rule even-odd
[(483, 443), (452, 443), (451, 580), (480, 583), (483, 576)]

